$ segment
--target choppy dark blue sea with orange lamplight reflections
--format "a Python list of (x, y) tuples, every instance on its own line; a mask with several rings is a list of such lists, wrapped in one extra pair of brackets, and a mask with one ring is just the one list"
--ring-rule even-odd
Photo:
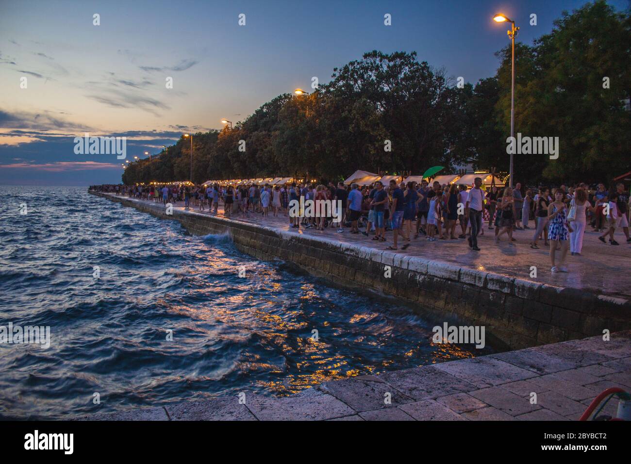
[(0, 345), (3, 417), (290, 395), (490, 352), (433, 345), (443, 321), (256, 261), (225, 235), (187, 235), (83, 188), (53, 187), (44, 201), (41, 189), (2, 189), (15, 213), (0, 217), (0, 325), (47, 325), (52, 338), (47, 350)]

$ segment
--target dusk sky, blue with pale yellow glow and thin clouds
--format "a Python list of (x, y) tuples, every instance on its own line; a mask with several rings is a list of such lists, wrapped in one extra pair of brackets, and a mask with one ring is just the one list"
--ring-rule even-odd
[(241, 121), (281, 93), (309, 90), (314, 76), (326, 83), (372, 50), (416, 51), (475, 83), (495, 74), (495, 52), (509, 42), (495, 13), (532, 44), (585, 3), (0, 0), (0, 184), (118, 183), (124, 160), (75, 153), (75, 136), (125, 136), (127, 160), (159, 153), (182, 133), (220, 129), (222, 118)]

